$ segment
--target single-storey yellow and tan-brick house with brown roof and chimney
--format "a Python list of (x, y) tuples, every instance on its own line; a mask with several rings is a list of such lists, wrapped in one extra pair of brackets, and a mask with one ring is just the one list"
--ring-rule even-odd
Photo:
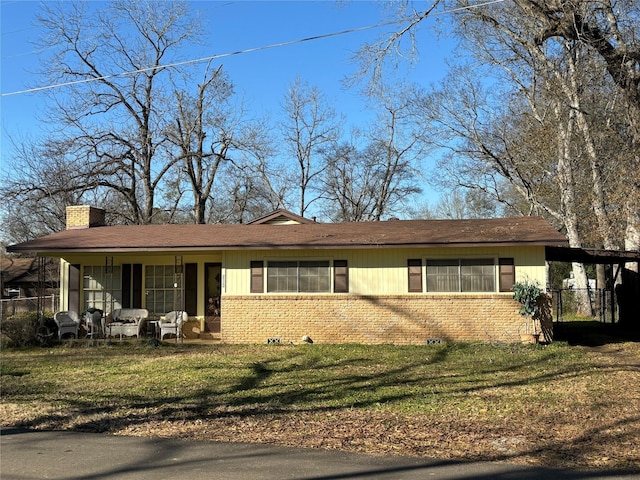
[(8, 247), (59, 258), (61, 309), (150, 319), (184, 310), (186, 338), (225, 343), (517, 342), (514, 282), (547, 285), (540, 217), (317, 223), (278, 210), (249, 224), (107, 226), (67, 208), (67, 229)]

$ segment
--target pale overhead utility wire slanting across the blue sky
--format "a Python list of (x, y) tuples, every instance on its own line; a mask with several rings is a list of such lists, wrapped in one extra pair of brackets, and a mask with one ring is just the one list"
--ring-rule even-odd
[[(479, 3), (476, 5), (467, 5), (464, 7), (459, 7), (459, 8), (455, 8), (452, 10), (447, 10), (447, 11), (443, 11), (443, 12), (436, 12), (430, 16), (437, 16), (437, 15), (444, 15), (444, 14), (448, 14), (448, 13), (454, 13), (457, 11), (461, 11), (461, 10), (468, 10), (471, 8), (477, 8), (477, 7), (484, 7), (487, 5), (492, 5), (494, 3), (502, 3), (505, 0), (491, 0), (489, 2), (485, 2), (485, 3)], [(387, 27), (389, 25), (396, 25), (398, 23), (404, 23), (406, 21), (411, 20), (412, 18), (415, 17), (419, 17), (419, 16), (414, 16), (414, 17), (410, 17), (410, 18), (403, 18), (403, 19), (398, 19), (398, 20), (391, 20), (388, 22), (383, 22), (383, 23), (378, 23), (375, 25), (367, 25), (364, 27), (357, 27), (357, 28), (351, 28), (348, 30), (342, 30), (339, 32), (332, 32), (332, 33), (325, 33), (322, 35), (314, 35), (312, 37), (306, 37), (306, 38), (301, 38), (298, 40), (289, 40), (286, 42), (279, 42), (279, 43), (272, 43), (270, 45), (263, 45), (260, 47), (253, 47), (253, 48), (247, 48), (244, 50), (237, 50), (235, 52), (228, 52), (228, 53), (220, 53), (217, 55), (211, 55), (209, 57), (202, 57), (202, 58), (196, 58), (196, 59), (192, 59), (192, 60), (185, 60), (183, 62), (175, 62), (175, 63), (170, 63), (167, 65), (159, 65), (159, 66), (154, 66), (154, 67), (148, 67), (148, 68), (141, 68), (138, 70), (131, 70), (131, 71), (127, 71), (127, 72), (120, 72), (120, 73), (114, 73), (112, 75), (103, 75), (101, 77), (95, 77), (95, 78), (86, 78), (83, 80), (75, 80), (72, 82), (64, 82), (64, 83), (56, 83), (56, 84), (52, 84), (52, 85), (45, 85), (42, 87), (34, 87), (34, 88), (29, 88), (26, 90), (18, 90), (15, 92), (8, 92), (8, 93), (1, 93), (0, 97), (9, 97), (12, 95), (21, 95), (21, 94), (25, 94), (25, 93), (35, 93), (35, 92), (40, 92), (43, 90), (50, 90), (53, 88), (60, 88), (60, 87), (68, 87), (71, 85), (78, 85), (81, 83), (89, 83), (89, 82), (96, 82), (99, 80), (108, 80), (110, 78), (117, 78), (117, 77), (124, 77), (127, 75), (134, 75), (136, 73), (144, 73), (144, 72), (149, 72), (151, 70), (164, 70), (165, 68), (174, 68), (174, 67), (179, 67), (179, 66), (183, 66), (183, 65), (191, 65), (194, 63), (201, 63), (201, 62), (209, 62), (211, 60), (217, 60), (219, 58), (226, 58), (226, 57), (232, 57), (235, 55), (243, 55), (246, 53), (253, 53), (253, 52), (259, 52), (261, 50), (269, 50), (272, 48), (279, 48), (279, 47), (286, 47), (286, 46), (290, 46), (290, 45), (296, 45), (296, 44), (300, 44), (300, 43), (305, 43), (305, 42), (310, 42), (313, 40), (322, 40), (325, 38), (331, 38), (331, 37), (337, 37), (337, 36), (341, 36), (341, 35), (347, 35), (350, 33), (357, 33), (357, 32), (363, 32), (365, 30), (372, 30), (374, 28), (381, 28), (381, 27)]]

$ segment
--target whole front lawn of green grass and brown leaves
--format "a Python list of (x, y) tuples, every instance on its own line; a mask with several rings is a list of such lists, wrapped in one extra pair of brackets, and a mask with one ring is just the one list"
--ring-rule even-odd
[(638, 369), (566, 343), (124, 342), (0, 358), (4, 426), (640, 468)]

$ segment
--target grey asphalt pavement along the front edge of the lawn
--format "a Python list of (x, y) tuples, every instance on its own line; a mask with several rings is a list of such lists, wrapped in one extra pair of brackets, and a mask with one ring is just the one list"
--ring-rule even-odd
[(631, 479), (501, 463), (379, 457), (271, 445), (119, 437), (18, 429), (0, 431), (2, 480), (91, 479)]

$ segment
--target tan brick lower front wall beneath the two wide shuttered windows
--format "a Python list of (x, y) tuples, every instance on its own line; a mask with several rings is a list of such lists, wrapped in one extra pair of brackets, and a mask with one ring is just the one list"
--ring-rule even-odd
[(430, 340), (517, 342), (524, 331), (511, 295), (223, 297), (222, 341), (424, 345)]

